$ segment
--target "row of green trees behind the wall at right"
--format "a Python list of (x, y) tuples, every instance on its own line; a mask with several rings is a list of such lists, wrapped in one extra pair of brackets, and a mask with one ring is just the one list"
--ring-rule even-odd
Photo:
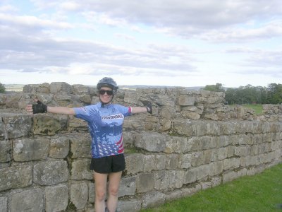
[(221, 83), (216, 83), (205, 86), (203, 90), (224, 92), (228, 105), (282, 103), (282, 84), (276, 83), (267, 87), (247, 85), (239, 88), (223, 88)]

